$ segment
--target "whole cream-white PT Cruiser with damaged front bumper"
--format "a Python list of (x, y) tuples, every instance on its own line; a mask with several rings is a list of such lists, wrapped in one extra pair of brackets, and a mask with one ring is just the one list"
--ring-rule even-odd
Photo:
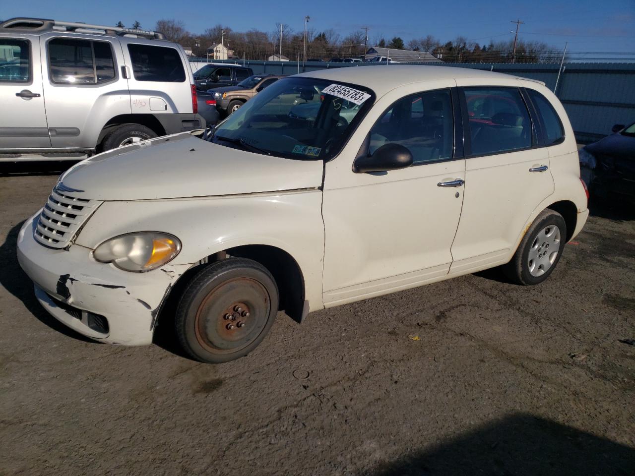
[(342, 68), (277, 81), (204, 135), (80, 162), (20, 230), (18, 258), (84, 336), (149, 344), (173, 319), (194, 359), (226, 362), (279, 310), (301, 322), (499, 266), (538, 284), (587, 215), (573, 131), (544, 84)]

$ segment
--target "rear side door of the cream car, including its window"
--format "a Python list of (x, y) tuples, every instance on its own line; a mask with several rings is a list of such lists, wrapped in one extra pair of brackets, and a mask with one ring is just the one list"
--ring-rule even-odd
[(538, 147), (520, 89), (464, 88), (461, 94), (471, 154), (450, 274), (505, 263), (531, 213), (554, 191), (549, 154)]

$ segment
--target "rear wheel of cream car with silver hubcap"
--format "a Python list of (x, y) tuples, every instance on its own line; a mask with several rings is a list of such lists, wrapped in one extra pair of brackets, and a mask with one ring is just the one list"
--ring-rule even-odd
[(533, 220), (521, 240), (514, 257), (503, 271), (517, 284), (540, 284), (553, 272), (566, 242), (565, 219), (546, 209)]

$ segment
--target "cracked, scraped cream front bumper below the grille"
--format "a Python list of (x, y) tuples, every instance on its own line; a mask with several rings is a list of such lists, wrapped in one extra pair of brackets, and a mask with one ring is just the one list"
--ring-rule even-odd
[(33, 237), (38, 215), (27, 220), (18, 234), (18, 261), (34, 281), (43, 307), (58, 321), (95, 340), (151, 343), (161, 305), (189, 266), (164, 265), (147, 273), (131, 273), (98, 263), (84, 246), (46, 248)]

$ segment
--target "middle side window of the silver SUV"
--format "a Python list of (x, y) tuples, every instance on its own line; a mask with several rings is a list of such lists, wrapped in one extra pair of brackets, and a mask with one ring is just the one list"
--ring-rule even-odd
[(48, 42), (51, 81), (97, 84), (116, 77), (112, 48), (105, 41), (54, 38)]

